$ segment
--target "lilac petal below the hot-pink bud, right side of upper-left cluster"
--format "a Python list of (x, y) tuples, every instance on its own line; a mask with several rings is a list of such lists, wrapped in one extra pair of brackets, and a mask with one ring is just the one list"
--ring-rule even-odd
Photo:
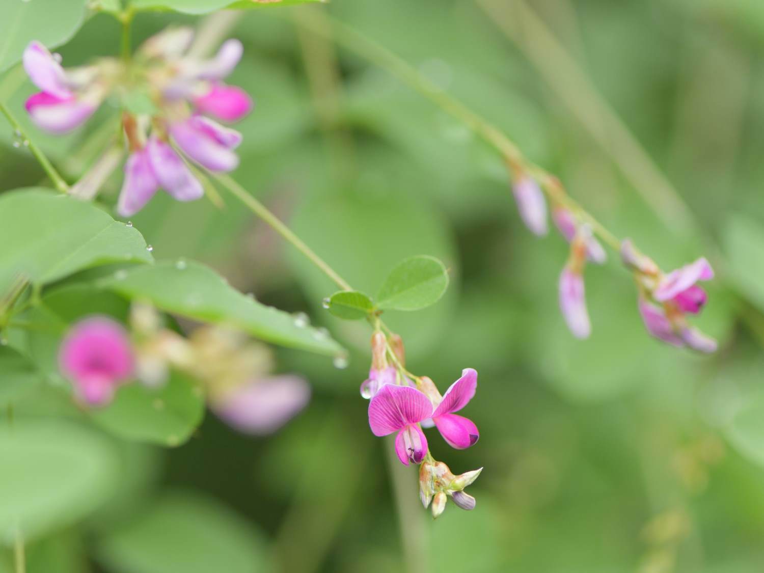
[(183, 153), (210, 171), (231, 171), (238, 166), (238, 156), (231, 151), (241, 142), (238, 131), (194, 116), (171, 125), (170, 134)]

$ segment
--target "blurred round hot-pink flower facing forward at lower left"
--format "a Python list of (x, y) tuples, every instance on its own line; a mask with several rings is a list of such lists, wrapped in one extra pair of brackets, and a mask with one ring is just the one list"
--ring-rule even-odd
[(116, 387), (133, 374), (128, 333), (105, 316), (83, 319), (63, 339), (59, 364), (82, 400), (93, 405), (108, 403)]

